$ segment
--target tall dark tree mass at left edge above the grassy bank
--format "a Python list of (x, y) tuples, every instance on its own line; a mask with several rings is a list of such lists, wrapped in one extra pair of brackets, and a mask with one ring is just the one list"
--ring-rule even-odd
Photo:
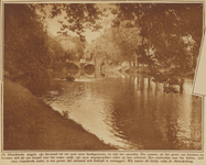
[(48, 66), (47, 33), (35, 10), (26, 4), (4, 6), (4, 69), (11, 77), (36, 77)]

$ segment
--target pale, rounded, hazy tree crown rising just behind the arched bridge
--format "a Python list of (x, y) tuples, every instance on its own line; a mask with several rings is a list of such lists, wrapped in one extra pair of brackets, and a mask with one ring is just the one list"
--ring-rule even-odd
[(122, 25), (105, 30), (102, 35), (91, 42), (90, 53), (94, 56), (101, 56), (108, 63), (133, 62), (135, 59), (132, 54), (140, 42), (138, 33), (138, 29), (126, 29)]

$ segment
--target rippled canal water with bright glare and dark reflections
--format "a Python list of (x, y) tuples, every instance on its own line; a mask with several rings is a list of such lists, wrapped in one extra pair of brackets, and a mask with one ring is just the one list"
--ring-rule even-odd
[[(51, 80), (33, 91), (46, 105), (119, 150), (200, 150), (202, 98), (192, 80), (165, 94), (147, 75)], [(178, 87), (176, 87), (178, 88)]]

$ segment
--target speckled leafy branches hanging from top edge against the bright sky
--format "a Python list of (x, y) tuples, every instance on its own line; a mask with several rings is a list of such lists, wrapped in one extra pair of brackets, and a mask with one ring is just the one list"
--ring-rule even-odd
[[(65, 21), (58, 21), (62, 24), (58, 33), (67, 35), (67, 31), (73, 31), (79, 35), (80, 41), (85, 41), (85, 29), (97, 31), (101, 28), (98, 20), (104, 12), (95, 3), (36, 3), (32, 7), (44, 13), (43, 18), (64, 14)], [(46, 12), (48, 9), (50, 12)]]

